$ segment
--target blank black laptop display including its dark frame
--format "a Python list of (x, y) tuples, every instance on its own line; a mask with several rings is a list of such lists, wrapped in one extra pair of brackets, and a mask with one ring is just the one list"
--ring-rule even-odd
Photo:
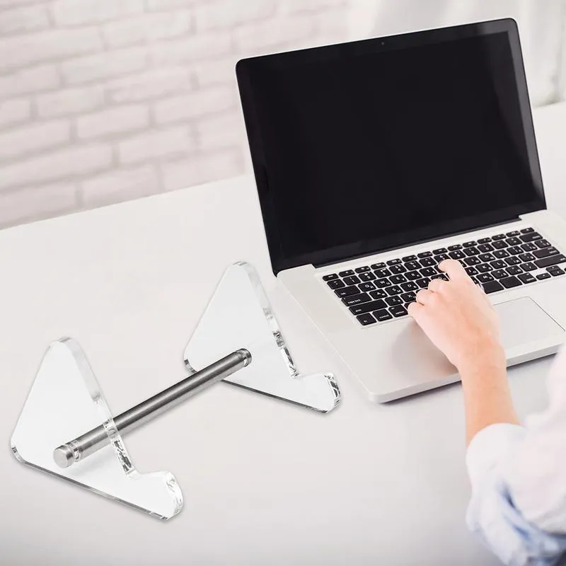
[(545, 206), (509, 22), (238, 64), (274, 272)]

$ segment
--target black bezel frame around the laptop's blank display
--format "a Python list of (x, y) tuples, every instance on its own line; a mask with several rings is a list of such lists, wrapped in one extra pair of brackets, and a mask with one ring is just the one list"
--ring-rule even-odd
[[(434, 226), (426, 226), (422, 229), (405, 231), (368, 241), (334, 246), (285, 258), (277, 228), (275, 204), (270, 194), (270, 184), (267, 175), (267, 167), (265, 165), (260, 125), (258, 123), (258, 115), (255, 112), (254, 91), (250, 80), (250, 71), (254, 71), (258, 66), (266, 63), (275, 67), (284, 67), (297, 62), (308, 64), (327, 57), (352, 57), (357, 54), (381, 53), (388, 50), (403, 49), (405, 47), (416, 47), (430, 43), (454, 41), (466, 37), (502, 32), (507, 33), (511, 47), (516, 87), (519, 94), (519, 108), (529, 158), (529, 170), (535, 185), (536, 199), (532, 202), (521, 204), (520, 206), (506, 207), (478, 216), (470, 216), (468, 218), (436, 224)], [(526, 85), (521, 43), (519, 40), (519, 30), (517, 29), (516, 22), (512, 18), (457, 25), (451, 28), (424, 30), (402, 35), (391, 35), (388, 37), (377, 37), (369, 40), (263, 55), (261, 57), (250, 57), (238, 61), (236, 64), (236, 78), (238, 80), (243, 116), (248, 134), (255, 183), (258, 188), (258, 198), (263, 216), (267, 247), (270, 253), (272, 270), (275, 275), (277, 275), (279, 271), (299, 265), (313, 264), (318, 266), (342, 262), (364, 255), (391, 250), (400, 246), (434, 240), (454, 233), (466, 232), (493, 224), (501, 224), (516, 219), (520, 214), (535, 212), (536, 210), (546, 208), (541, 167), (538, 161), (533, 118), (531, 115), (531, 104)]]

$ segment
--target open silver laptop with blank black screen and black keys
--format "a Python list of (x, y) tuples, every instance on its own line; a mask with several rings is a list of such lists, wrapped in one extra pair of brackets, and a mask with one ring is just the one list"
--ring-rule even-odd
[(511, 19), (236, 66), (272, 269), (371, 400), (458, 381), (408, 316), (446, 258), (499, 313), (509, 365), (566, 328), (566, 222), (546, 209)]

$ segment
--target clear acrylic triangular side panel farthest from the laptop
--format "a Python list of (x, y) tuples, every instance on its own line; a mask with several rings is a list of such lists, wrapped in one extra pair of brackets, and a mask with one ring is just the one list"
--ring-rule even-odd
[[(54, 449), (103, 427), (108, 444), (95, 454), (61, 468)], [(115, 427), (96, 377), (79, 344), (71, 338), (52, 342), (11, 438), (19, 461), (86, 487), (159, 519), (183, 507), (183, 495), (166, 471), (139, 473)]]

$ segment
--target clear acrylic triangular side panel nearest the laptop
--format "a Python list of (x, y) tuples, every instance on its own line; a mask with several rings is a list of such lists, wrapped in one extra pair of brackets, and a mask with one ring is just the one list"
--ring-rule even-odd
[(245, 262), (224, 272), (185, 349), (185, 364), (198, 371), (240, 348), (252, 362), (224, 381), (319, 412), (340, 402), (332, 374), (299, 374), (258, 273)]

